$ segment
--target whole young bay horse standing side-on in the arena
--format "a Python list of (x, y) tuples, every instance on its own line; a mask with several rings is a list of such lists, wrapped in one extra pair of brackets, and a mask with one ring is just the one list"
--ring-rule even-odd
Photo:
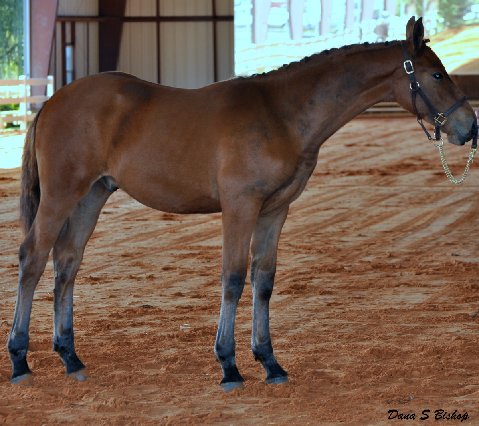
[[(280, 232), (321, 145), (380, 101), (397, 101), (431, 124), (428, 103), (438, 111), (453, 105), (440, 125), (449, 142), (463, 145), (477, 133), (472, 108), (426, 41), (422, 20), (413, 17), (406, 40), (333, 49), (200, 89), (103, 73), (58, 90), (37, 115), (24, 147), (25, 239), (8, 339), (12, 382), (31, 374), (33, 294), (52, 249), (53, 348), (67, 374), (86, 378), (74, 347), (73, 285), (100, 210), (118, 188), (164, 212), (222, 212), (222, 297), (214, 345), (221, 384), (230, 390), (243, 382), (234, 326), (250, 252), (253, 355), (267, 383), (287, 381), (273, 353), (269, 301)], [(411, 70), (427, 101), (411, 96)]]

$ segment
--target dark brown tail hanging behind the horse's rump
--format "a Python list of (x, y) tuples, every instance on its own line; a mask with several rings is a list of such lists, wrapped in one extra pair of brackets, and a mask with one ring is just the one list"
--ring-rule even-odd
[(28, 231), (30, 231), (32, 227), (35, 216), (37, 215), (38, 205), (40, 204), (40, 179), (38, 177), (38, 164), (35, 150), (35, 128), (42, 109), (38, 111), (33, 123), (30, 125), (23, 147), (20, 220), (25, 235), (28, 234)]

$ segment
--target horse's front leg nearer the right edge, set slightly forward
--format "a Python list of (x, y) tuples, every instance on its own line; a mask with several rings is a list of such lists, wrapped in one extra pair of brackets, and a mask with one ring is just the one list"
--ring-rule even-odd
[(266, 383), (283, 383), (288, 373), (276, 361), (269, 333), (269, 300), (276, 272), (279, 236), (288, 209), (260, 216), (251, 246), (251, 284), (253, 290), (253, 329), (251, 348), (257, 361), (266, 370)]

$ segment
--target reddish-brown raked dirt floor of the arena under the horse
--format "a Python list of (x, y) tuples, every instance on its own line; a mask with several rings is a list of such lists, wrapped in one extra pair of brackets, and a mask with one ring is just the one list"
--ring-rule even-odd
[[(467, 151), (447, 146), (456, 171)], [(1, 344), (0, 423), (386, 425), (398, 410), (416, 416), (402, 423), (436, 424), (442, 409), (479, 424), (478, 179), (473, 165), (449, 184), (410, 116), (356, 119), (334, 135), (280, 243), (271, 329), (290, 381), (265, 385), (253, 360), (247, 286), (236, 334), (246, 383), (228, 394), (212, 350), (220, 215), (164, 214), (118, 191), (75, 289), (89, 380), (66, 377), (52, 352), (49, 264), (32, 314), (33, 385), (9, 383)], [(0, 172), (0, 342), (16, 294), (18, 186), (18, 169)]]

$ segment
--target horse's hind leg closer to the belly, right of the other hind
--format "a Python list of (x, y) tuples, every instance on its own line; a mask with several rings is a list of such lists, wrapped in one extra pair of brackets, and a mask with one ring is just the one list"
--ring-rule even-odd
[[(113, 189), (114, 190), (114, 189)], [(55, 269), (55, 319), (53, 349), (60, 355), (67, 374), (85, 380), (85, 366), (75, 352), (73, 337), (73, 286), (86, 243), (112, 190), (97, 181), (69, 216), (53, 248)]]

